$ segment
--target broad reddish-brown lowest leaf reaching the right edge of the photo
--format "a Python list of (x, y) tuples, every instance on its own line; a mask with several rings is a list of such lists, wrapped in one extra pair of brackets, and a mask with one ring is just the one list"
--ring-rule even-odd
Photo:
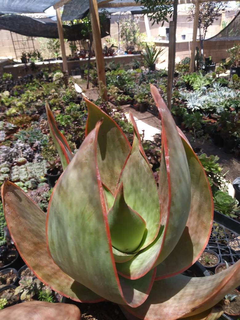
[[(173, 276), (154, 282), (148, 299), (138, 308), (124, 306), (140, 319), (175, 320), (192, 317), (215, 306), (240, 284), (240, 260), (211, 277)], [(211, 319), (211, 318), (210, 318)]]

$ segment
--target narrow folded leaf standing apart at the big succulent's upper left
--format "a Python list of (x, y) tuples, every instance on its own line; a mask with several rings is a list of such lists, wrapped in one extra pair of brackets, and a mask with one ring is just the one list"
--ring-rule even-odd
[(68, 146), (67, 140), (64, 138), (63, 134), (58, 130), (54, 116), (47, 102), (45, 107), (52, 140), (55, 144), (56, 149), (58, 150), (62, 168), (64, 170), (73, 158), (72, 151)]

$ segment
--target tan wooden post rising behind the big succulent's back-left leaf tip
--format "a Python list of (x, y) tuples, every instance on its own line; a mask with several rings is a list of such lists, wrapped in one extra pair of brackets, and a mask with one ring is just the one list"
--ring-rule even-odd
[[(108, 101), (97, 0), (89, 0), (89, 11), (90, 11), (90, 18), (91, 18), (91, 25), (92, 25), (92, 38), (93, 38), (94, 52), (96, 56), (100, 94), (103, 100)], [(105, 88), (103, 88), (103, 86)]]

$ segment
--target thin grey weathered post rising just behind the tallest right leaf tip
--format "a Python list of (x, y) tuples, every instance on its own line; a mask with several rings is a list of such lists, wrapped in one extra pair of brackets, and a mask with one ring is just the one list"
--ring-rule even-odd
[(172, 84), (175, 68), (176, 54), (176, 29), (177, 29), (177, 12), (178, 0), (174, 0), (173, 17), (169, 22), (169, 46), (168, 46), (168, 77), (167, 77), (167, 107), (171, 110), (172, 107)]

